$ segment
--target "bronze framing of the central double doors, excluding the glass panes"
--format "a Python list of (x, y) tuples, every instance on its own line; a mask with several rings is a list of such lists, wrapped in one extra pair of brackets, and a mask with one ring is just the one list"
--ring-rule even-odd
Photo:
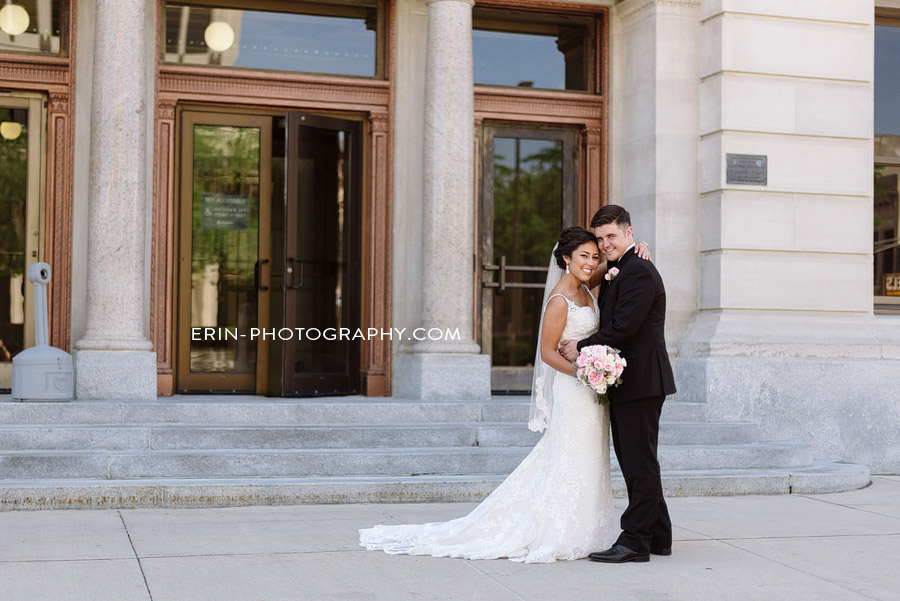
[[(316, 389), (297, 391), (297, 385), (316, 384), (319, 388), (335, 386), (334, 377), (295, 376), (285, 367), (290, 353), (285, 352), (290, 342), (271, 340), (260, 336), (257, 343), (257, 362), (255, 374), (227, 373), (191, 373), (190, 372), (190, 321), (191, 321), (191, 236), (192, 236), (192, 203), (193, 203), (193, 126), (194, 125), (229, 125), (234, 127), (259, 127), (260, 135), (260, 191), (259, 191), (259, 248), (258, 259), (261, 264), (259, 272), (258, 314), (257, 324), (264, 328), (280, 329), (289, 325), (285, 316), (289, 311), (290, 290), (285, 284), (289, 281), (287, 273), (290, 265), (287, 257), (296, 256), (296, 232), (284, 238), (273, 237), (273, 219), (283, 219), (284, 223), (296, 223), (296, 182), (298, 172), (291, 167), (291, 159), (296, 161), (298, 155), (299, 136), (291, 135), (292, 127), (296, 127), (302, 119), (304, 125), (316, 128), (340, 129), (350, 132), (349, 160), (350, 178), (355, 181), (347, 198), (347, 216), (351, 220), (350, 253), (347, 261), (348, 269), (355, 276), (349, 278), (350, 290), (346, 291), (347, 309), (351, 311), (353, 327), (362, 327), (362, 287), (363, 287), (363, 198), (365, 195), (365, 160), (364, 156), (364, 121), (362, 115), (323, 116), (321, 113), (307, 113), (297, 110), (254, 110), (229, 109), (213, 106), (179, 107), (179, 168), (177, 205), (177, 282), (175, 291), (176, 327), (173, 329), (176, 365), (175, 389), (179, 392), (245, 392), (258, 395), (274, 394), (279, 396), (303, 396), (321, 394)], [(273, 208), (272, 185), (272, 148), (273, 131), (276, 119), (285, 122), (285, 133), (288, 146), (285, 161), (284, 209)], [(294, 213), (291, 213), (294, 211)], [(287, 213), (287, 214), (286, 214)], [(293, 216), (293, 218), (292, 218)], [(278, 245), (278, 248), (274, 248)], [(244, 333), (244, 332), (240, 332)], [(339, 388), (331, 393), (353, 394), (364, 387), (365, 375), (361, 373), (362, 349), (359, 345), (348, 358), (348, 371), (344, 377), (338, 377)], [(299, 377), (299, 380), (298, 380)], [(324, 393), (328, 393), (325, 390)]]

